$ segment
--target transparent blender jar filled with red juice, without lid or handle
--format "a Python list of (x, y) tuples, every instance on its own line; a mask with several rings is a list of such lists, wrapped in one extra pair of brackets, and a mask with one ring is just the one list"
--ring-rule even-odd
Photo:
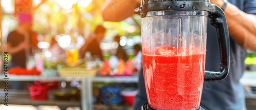
[(207, 11), (151, 11), (141, 19), (144, 81), (153, 109), (199, 108), (207, 16)]

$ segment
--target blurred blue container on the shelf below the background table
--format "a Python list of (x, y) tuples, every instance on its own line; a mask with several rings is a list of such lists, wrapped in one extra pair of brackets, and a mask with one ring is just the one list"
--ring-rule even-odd
[(101, 89), (104, 104), (119, 104), (122, 101), (121, 89), (118, 86), (105, 86)]

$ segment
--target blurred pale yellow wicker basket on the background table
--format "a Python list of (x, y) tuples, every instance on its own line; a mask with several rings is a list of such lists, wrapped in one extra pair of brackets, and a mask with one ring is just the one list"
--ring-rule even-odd
[(60, 77), (95, 77), (98, 70), (86, 70), (84, 68), (62, 68), (59, 70)]

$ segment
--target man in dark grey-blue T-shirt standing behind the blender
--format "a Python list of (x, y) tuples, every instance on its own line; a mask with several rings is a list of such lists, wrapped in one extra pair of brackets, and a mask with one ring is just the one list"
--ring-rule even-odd
[[(134, 14), (132, 8), (139, 2), (139, 0), (137, 2), (135, 0), (119, 1), (117, 4), (115, 0), (109, 0), (102, 8), (103, 19), (123, 20)], [(210, 0), (210, 2), (224, 8), (230, 34), (230, 71), (224, 80), (204, 82), (201, 105), (208, 109), (244, 110), (246, 109), (245, 94), (239, 79), (245, 70), (246, 50), (256, 51), (256, 0), (228, 0), (227, 2)], [(210, 51), (206, 51), (205, 69), (219, 71), (218, 38), (216, 28), (211, 26), (209, 21), (208, 19), (207, 50)], [(142, 71), (139, 77), (139, 94), (136, 96), (134, 109), (140, 109), (142, 104), (147, 102)]]

